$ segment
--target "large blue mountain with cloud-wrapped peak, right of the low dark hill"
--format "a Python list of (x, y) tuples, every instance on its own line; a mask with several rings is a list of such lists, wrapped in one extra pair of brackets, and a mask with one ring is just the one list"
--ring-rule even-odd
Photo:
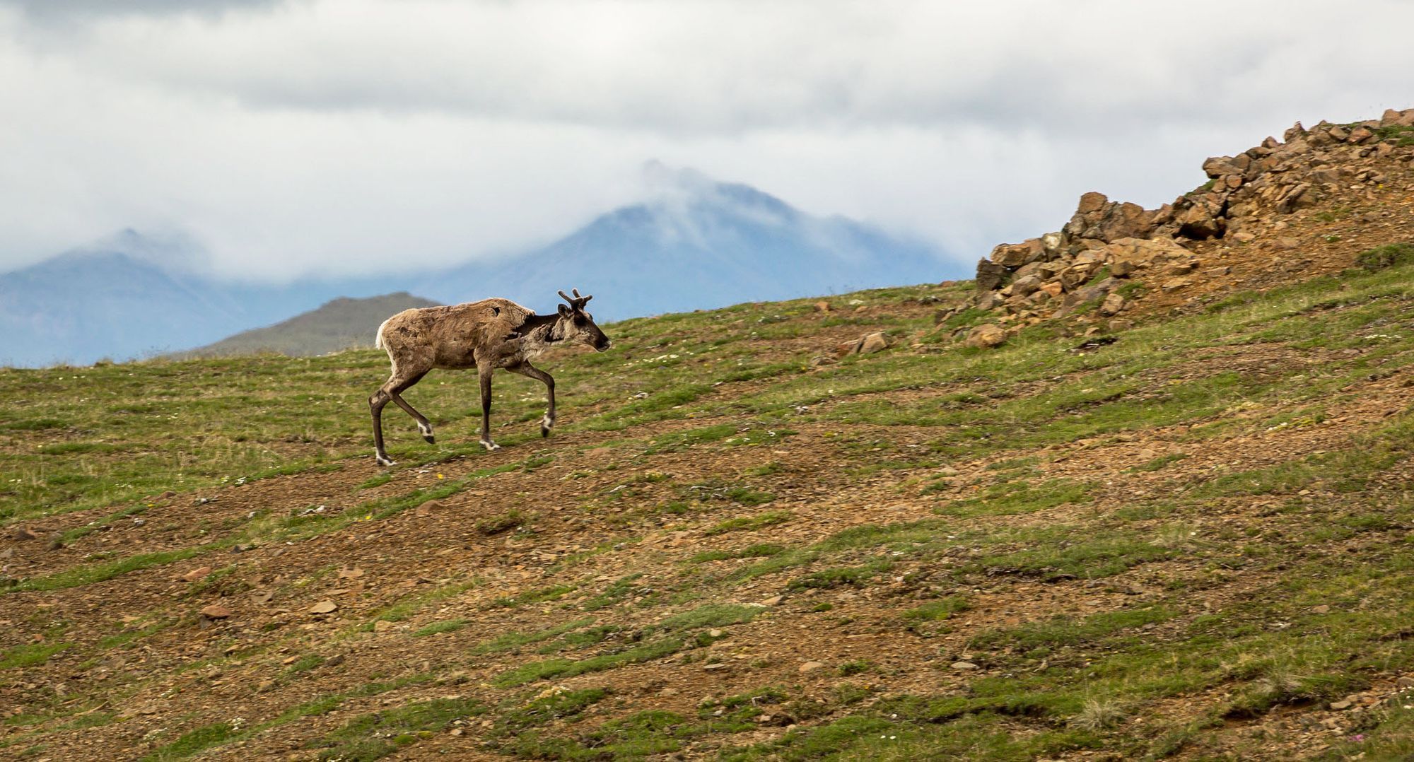
[(594, 294), (598, 320), (967, 277), (932, 245), (819, 218), (749, 185), (648, 165), (653, 198), (518, 257), (437, 273), (444, 301), (505, 295), (544, 311), (557, 288)]

